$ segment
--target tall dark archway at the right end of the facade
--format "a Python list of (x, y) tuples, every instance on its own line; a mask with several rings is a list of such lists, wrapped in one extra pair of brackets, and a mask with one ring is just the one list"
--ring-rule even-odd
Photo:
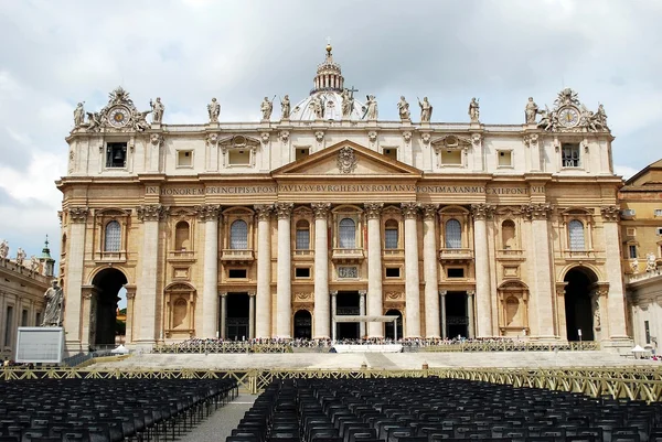
[[(591, 285), (598, 278), (590, 269), (576, 267), (570, 269), (564, 281), (565, 315), (568, 341), (594, 341), (594, 314), (591, 303)], [(579, 338), (581, 331), (581, 338)]]

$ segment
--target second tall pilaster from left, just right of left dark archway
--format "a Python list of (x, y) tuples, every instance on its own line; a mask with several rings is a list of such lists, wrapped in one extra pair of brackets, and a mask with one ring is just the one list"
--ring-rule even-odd
[(160, 204), (143, 205), (136, 208), (138, 219), (142, 222), (142, 249), (140, 250), (140, 283), (137, 288), (140, 324), (137, 344), (151, 346), (157, 341), (157, 294), (159, 266), (159, 222), (168, 214), (169, 207)]

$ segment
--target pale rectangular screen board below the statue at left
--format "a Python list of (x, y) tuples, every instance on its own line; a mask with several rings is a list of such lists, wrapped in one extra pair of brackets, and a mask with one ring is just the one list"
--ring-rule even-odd
[(60, 364), (63, 353), (63, 327), (19, 327), (17, 363)]

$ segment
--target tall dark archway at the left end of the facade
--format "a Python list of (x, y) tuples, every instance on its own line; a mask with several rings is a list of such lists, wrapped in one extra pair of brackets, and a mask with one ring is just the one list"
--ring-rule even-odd
[(124, 330), (117, 322), (118, 297), (120, 289), (127, 283), (127, 277), (117, 269), (104, 269), (92, 280), (96, 295), (92, 297), (89, 317), (89, 344), (115, 345), (115, 336)]

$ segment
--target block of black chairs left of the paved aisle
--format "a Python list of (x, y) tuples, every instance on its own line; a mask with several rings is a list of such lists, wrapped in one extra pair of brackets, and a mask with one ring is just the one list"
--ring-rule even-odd
[(0, 384), (0, 442), (174, 440), (237, 396), (229, 379)]

